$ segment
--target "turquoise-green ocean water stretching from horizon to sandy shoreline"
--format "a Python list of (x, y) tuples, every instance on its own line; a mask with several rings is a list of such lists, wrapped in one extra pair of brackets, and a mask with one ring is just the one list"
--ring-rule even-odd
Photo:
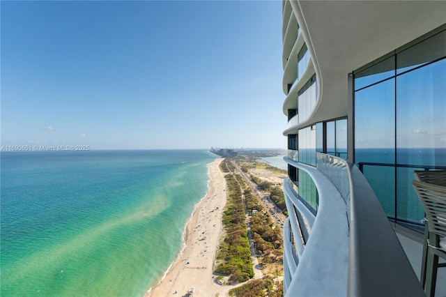
[(1, 154), (1, 296), (141, 296), (206, 195), (204, 150)]

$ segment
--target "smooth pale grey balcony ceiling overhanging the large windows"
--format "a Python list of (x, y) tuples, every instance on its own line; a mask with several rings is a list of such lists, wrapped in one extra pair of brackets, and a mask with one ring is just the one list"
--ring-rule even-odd
[(348, 73), (446, 22), (446, 1), (292, 1), (291, 6), (321, 87), (318, 109), (306, 124), (346, 116)]

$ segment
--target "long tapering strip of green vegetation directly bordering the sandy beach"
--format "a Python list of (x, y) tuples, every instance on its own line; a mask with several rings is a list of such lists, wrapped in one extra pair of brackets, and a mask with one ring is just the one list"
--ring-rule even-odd
[[(227, 163), (229, 162), (224, 160), (222, 167), (228, 168)], [(220, 245), (217, 261), (221, 263), (217, 265), (215, 272), (230, 275), (230, 281), (245, 282), (254, 277), (254, 268), (247, 238), (242, 191), (232, 174), (227, 174), (225, 178), (228, 188), (228, 202), (223, 214), (226, 237)]]

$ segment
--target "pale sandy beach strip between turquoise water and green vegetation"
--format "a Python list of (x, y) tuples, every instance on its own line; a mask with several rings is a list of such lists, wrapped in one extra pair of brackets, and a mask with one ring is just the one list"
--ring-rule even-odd
[[(222, 158), (208, 165), (208, 193), (197, 204), (185, 229), (185, 249), (167, 275), (146, 296), (187, 296), (194, 287), (194, 296), (229, 296), (235, 286), (215, 282), (213, 264), (222, 232), (222, 213), (226, 204), (226, 181), (220, 170)], [(175, 293), (176, 292), (176, 293)]]

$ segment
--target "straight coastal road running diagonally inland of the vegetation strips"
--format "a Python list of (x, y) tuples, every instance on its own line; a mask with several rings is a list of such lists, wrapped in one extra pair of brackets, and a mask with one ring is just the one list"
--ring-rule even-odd
[(235, 167), (240, 175), (243, 177), (243, 180), (247, 185), (249, 185), (249, 188), (252, 189), (252, 192), (256, 195), (256, 197), (259, 199), (263, 207), (266, 208), (266, 211), (270, 213), (272, 220), (279, 226), (279, 228), (283, 231), (284, 229), (284, 223), (286, 220), (285, 215), (282, 213), (280, 208), (278, 208), (274, 202), (271, 201), (270, 195), (266, 194), (266, 192), (262, 191), (256, 183), (254, 183), (251, 178), (249, 177), (249, 174), (243, 172), (243, 170), (236, 164), (236, 162), (231, 161), (231, 164), (233, 167)]

